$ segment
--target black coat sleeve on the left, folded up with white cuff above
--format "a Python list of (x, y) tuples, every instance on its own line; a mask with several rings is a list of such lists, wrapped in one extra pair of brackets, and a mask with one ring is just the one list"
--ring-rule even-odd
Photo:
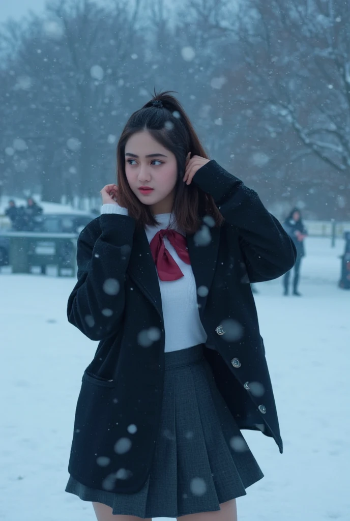
[(121, 324), (135, 228), (135, 220), (124, 215), (103, 214), (98, 219), (101, 234), (97, 239), (91, 223), (79, 235), (78, 282), (67, 306), (69, 322), (91, 340), (107, 338)]

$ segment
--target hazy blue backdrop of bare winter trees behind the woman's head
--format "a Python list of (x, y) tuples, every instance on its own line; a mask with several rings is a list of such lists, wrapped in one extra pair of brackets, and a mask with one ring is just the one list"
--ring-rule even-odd
[(13, 4), (32, 12), (2, 12), (0, 196), (95, 207), (122, 127), (155, 86), (178, 92), (210, 157), (277, 217), (298, 205), (306, 219), (349, 219), (342, 0)]

